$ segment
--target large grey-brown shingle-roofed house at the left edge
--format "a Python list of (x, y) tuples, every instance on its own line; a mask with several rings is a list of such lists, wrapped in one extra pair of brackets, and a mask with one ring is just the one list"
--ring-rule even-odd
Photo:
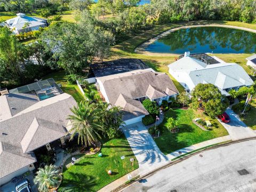
[[(42, 98), (35, 84), (27, 86), (30, 93), (20, 93), (25, 87), (18, 87), (13, 93), (5, 91), (0, 96), (0, 186), (35, 169), (34, 150), (41, 147), (51, 150), (52, 142), (65, 145), (68, 139), (71, 124), (67, 116), (76, 105), (74, 98), (67, 93)], [(31, 93), (33, 87), (36, 93)], [(41, 91), (47, 93), (47, 90)], [(48, 93), (51, 94), (51, 90)]]

